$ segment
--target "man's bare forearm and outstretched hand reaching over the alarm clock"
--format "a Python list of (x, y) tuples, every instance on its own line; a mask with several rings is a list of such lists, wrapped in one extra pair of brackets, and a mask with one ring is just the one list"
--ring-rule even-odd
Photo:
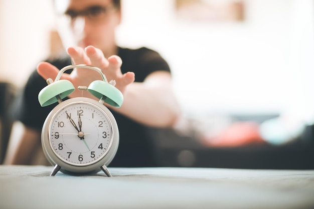
[[(144, 82), (136, 83), (134, 73), (121, 73), (122, 60), (118, 56), (106, 59), (99, 49), (91, 46), (85, 49), (68, 48), (67, 51), (73, 63), (96, 66), (102, 70), (108, 81), (116, 81), (115, 87), (124, 97), (122, 106), (116, 108), (116, 111), (144, 125), (154, 127), (174, 125), (179, 117), (179, 105), (172, 91), (169, 72), (155, 71), (149, 74)], [(54, 79), (59, 69), (49, 63), (40, 63), (37, 71), (44, 79)], [(61, 79), (71, 81), (75, 87), (88, 86), (90, 82), (99, 80), (99, 73), (75, 69), (71, 74), (63, 74)], [(81, 92), (76, 90), (69, 97), (80, 95)]]

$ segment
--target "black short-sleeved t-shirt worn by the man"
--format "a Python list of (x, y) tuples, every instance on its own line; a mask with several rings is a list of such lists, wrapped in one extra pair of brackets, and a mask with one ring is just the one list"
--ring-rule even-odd
[[(119, 48), (118, 56), (122, 59), (121, 72), (128, 71), (135, 73), (135, 82), (143, 82), (146, 76), (154, 71), (170, 72), (167, 62), (155, 51), (147, 48), (125, 49)], [(58, 69), (71, 65), (71, 59), (49, 61)], [(70, 73), (67, 71), (66, 73)], [(47, 86), (46, 81), (34, 71), (25, 88), (18, 96), (14, 108), (15, 119), (20, 120), (26, 126), (41, 131), (43, 123), (49, 112), (57, 105), (52, 104), (41, 107), (38, 102), (38, 93)], [(118, 151), (109, 166), (140, 167), (156, 166), (153, 155), (153, 145), (148, 137), (148, 127), (139, 124), (124, 115), (111, 110), (114, 115), (120, 134)]]

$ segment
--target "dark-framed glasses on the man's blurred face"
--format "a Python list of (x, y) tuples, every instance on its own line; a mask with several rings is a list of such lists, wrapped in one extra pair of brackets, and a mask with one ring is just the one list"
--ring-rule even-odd
[(75, 11), (69, 9), (65, 12), (65, 16), (68, 17), (71, 22), (74, 22), (78, 17), (85, 17), (92, 21), (98, 21), (107, 17), (114, 9), (115, 8), (112, 5), (109, 5), (107, 7), (92, 6), (83, 11)]

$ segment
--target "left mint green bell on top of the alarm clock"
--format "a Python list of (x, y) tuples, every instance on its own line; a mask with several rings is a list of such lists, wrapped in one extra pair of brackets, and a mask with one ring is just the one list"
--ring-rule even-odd
[(38, 101), (42, 107), (45, 107), (56, 103), (58, 101), (58, 96), (63, 99), (74, 90), (75, 88), (70, 81), (59, 80), (44, 87), (38, 94)]

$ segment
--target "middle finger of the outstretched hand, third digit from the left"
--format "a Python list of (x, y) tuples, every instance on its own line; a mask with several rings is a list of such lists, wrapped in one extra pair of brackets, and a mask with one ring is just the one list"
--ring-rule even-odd
[(91, 65), (100, 69), (108, 68), (109, 62), (100, 49), (97, 49), (93, 46), (88, 46), (85, 48), (85, 53), (89, 57)]

